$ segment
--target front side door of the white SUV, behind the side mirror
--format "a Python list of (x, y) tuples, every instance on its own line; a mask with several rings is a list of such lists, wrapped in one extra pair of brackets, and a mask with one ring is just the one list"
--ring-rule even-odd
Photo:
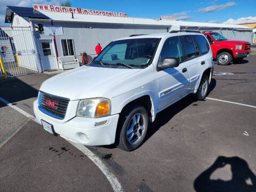
[(175, 68), (167, 68), (157, 72), (158, 83), (158, 111), (171, 105), (187, 94), (189, 73), (187, 69), (181, 39), (170, 37), (166, 39), (158, 62), (163, 62), (165, 58), (177, 58), (180, 65)]

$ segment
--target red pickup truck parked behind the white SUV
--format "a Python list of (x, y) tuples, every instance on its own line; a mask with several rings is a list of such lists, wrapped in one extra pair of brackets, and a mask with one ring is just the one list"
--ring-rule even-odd
[(219, 65), (229, 65), (230, 61), (239, 62), (250, 55), (250, 42), (230, 41), (223, 35), (212, 31), (203, 32), (203, 34), (209, 40), (213, 58)]

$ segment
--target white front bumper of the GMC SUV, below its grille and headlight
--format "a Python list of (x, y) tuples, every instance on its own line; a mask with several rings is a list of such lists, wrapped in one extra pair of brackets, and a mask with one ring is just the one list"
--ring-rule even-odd
[[(54, 131), (67, 140), (87, 146), (110, 145), (115, 142), (119, 114), (102, 118), (74, 117), (63, 122), (39, 110), (37, 100), (34, 101), (34, 113), (38, 122), (43, 119), (52, 124)], [(105, 124), (95, 126), (95, 123), (105, 121)]]

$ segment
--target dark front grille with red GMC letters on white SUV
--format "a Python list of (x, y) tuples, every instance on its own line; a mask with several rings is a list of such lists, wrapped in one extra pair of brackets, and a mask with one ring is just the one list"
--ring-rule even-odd
[[(48, 101), (46, 101), (48, 100)], [(53, 95), (49, 95), (46, 93), (42, 93), (42, 100), (41, 100), (41, 106), (44, 110), (47, 112), (64, 118), (66, 115), (67, 107), (68, 107), (68, 101), (67, 99), (62, 99), (58, 97), (54, 97)], [(51, 103), (55, 103), (54, 106), (51, 106)], [(47, 105), (46, 105), (47, 103)], [(56, 104), (57, 103), (57, 104)], [(57, 107), (57, 109), (55, 108)]]

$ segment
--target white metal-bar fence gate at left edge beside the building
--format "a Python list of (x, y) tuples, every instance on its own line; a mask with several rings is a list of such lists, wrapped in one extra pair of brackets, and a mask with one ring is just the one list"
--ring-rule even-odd
[(39, 73), (30, 27), (0, 27), (0, 48), (3, 65), (0, 75), (3, 76), (4, 72), (7, 77)]

